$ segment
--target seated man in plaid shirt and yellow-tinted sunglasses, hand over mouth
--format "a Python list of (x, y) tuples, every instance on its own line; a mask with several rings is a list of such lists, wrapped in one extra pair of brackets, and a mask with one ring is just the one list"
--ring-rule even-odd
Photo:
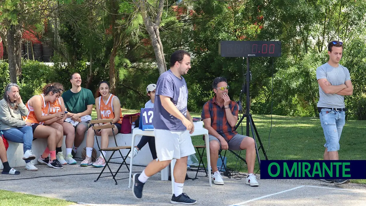
[(252, 187), (257, 187), (259, 184), (253, 175), (255, 163), (254, 139), (240, 135), (235, 131), (235, 125), (238, 122), (239, 106), (229, 98), (227, 80), (224, 77), (215, 78), (212, 83), (212, 89), (215, 96), (203, 105), (201, 117), (209, 134), (213, 183), (224, 184), (223, 177), (221, 177), (217, 169), (219, 150), (246, 150), (248, 176), (245, 183)]

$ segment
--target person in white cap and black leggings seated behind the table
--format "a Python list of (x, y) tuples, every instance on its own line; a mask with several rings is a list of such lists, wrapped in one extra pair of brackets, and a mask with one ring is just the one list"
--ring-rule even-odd
[[(150, 100), (146, 102), (145, 108), (154, 108), (155, 89), (156, 89), (156, 84), (147, 85), (146, 93), (150, 97)], [(142, 136), (140, 142), (134, 148), (134, 150), (130, 154), (128, 154), (128, 157), (131, 158), (132, 154), (135, 157), (137, 155), (138, 151), (140, 151), (141, 148), (146, 145), (146, 143), (149, 143), (151, 155), (153, 156), (153, 159), (155, 160), (157, 158), (157, 156), (156, 156), (156, 149), (155, 149), (155, 138), (153, 136)]]

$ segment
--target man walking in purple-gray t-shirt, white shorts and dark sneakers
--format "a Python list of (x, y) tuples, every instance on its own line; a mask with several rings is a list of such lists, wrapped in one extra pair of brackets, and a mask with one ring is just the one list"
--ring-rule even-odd
[(157, 81), (154, 103), (154, 135), (157, 159), (146, 166), (141, 174), (134, 174), (132, 192), (142, 198), (143, 185), (147, 179), (176, 159), (174, 166), (174, 194), (171, 203), (195, 204), (186, 193), (183, 183), (187, 172), (187, 157), (196, 153), (191, 136), (193, 119), (187, 110), (188, 89), (182, 75), (191, 68), (190, 54), (176, 50), (170, 57), (170, 70), (161, 74)]

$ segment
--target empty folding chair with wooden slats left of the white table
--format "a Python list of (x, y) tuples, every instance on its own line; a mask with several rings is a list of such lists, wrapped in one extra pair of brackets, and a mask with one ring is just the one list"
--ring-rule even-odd
[[(91, 127), (91, 128), (94, 130), (94, 136), (95, 136), (95, 139), (96, 139), (96, 141), (97, 141), (98, 149), (99, 149), (99, 151), (101, 152), (102, 157), (104, 158), (104, 160), (106, 160), (106, 161), (105, 161), (105, 166), (104, 166), (104, 168), (103, 168), (103, 169), (102, 169), (102, 171), (100, 172), (100, 174), (99, 174), (98, 178), (97, 178), (96, 180), (94, 180), (94, 182), (98, 181), (98, 180), (99, 180), (99, 178), (102, 178), (102, 177), (101, 177), (101, 175), (102, 175), (102, 173), (104, 172), (104, 170), (105, 170), (105, 168), (106, 168), (106, 167), (108, 167), (109, 172), (111, 172), (111, 175), (103, 176), (103, 177), (110, 177), (110, 176), (112, 176), (112, 177), (113, 177), (113, 180), (116, 182), (116, 184), (117, 184), (117, 180), (123, 180), (123, 179), (127, 179), (127, 178), (129, 178), (129, 177), (125, 177), (125, 178), (121, 178), (121, 179), (116, 179), (115, 177), (116, 177), (117, 173), (119, 172), (119, 170), (121, 169), (122, 165), (126, 165), (126, 168), (127, 168), (127, 170), (128, 170), (128, 173), (130, 172), (130, 169), (128, 168), (128, 165), (127, 165), (127, 163), (126, 163), (126, 159), (127, 159), (127, 157), (128, 157), (128, 154), (130, 154), (130, 152), (131, 152), (131, 146), (118, 146), (118, 145), (117, 145), (117, 140), (116, 140), (116, 135), (114, 134), (114, 130), (112, 130), (112, 134), (113, 134), (113, 138), (114, 138), (114, 140), (115, 140), (115, 144), (116, 144), (116, 146), (115, 146), (115, 147), (107, 147), (107, 148), (103, 148), (103, 149), (101, 149), (101, 148), (100, 148), (100, 146), (99, 146), (99, 142), (98, 142), (98, 138), (97, 138), (97, 132), (96, 132), (96, 130), (109, 129), (109, 128), (112, 128), (112, 129), (113, 129), (113, 128), (115, 128), (115, 126), (112, 124), (112, 121), (113, 121), (113, 119), (102, 119), (102, 120), (91, 120), (91, 121), (90, 121), (90, 123), (91, 123), (92, 125), (94, 125), (94, 124), (98, 124), (98, 123), (110, 123), (109, 125), (103, 125), (103, 126), (92, 126), (92, 127)], [(120, 150), (122, 150), (122, 149), (129, 149), (129, 151), (128, 151), (128, 153), (126, 154), (126, 156), (125, 156), (125, 157), (122, 155), (122, 153), (121, 153), (121, 151), (120, 151)], [(111, 156), (109, 157), (109, 159), (108, 159), (108, 160), (104, 157), (104, 154), (102, 153), (102, 151), (112, 151), (112, 154), (111, 154)], [(116, 151), (118, 151), (118, 152), (119, 152), (120, 157), (113, 157), (113, 154), (114, 154)], [(118, 163), (118, 162), (110, 162), (112, 159), (117, 159), (117, 158), (122, 158), (122, 160), (123, 160), (123, 161), (122, 161), (122, 163)], [(120, 165), (120, 166), (119, 166), (119, 168), (117, 169), (117, 171), (116, 171), (116, 173), (115, 173), (115, 174), (113, 174), (113, 172), (112, 172), (111, 168), (109, 167), (109, 164), (119, 164), (119, 165)]]

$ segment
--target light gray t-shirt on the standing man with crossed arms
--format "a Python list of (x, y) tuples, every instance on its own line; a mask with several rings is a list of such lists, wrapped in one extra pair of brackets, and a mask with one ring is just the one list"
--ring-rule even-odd
[[(317, 68), (317, 80), (327, 79), (332, 85), (344, 84), (351, 80), (350, 72), (346, 67), (339, 64), (337, 68), (325, 63)], [(318, 107), (344, 108), (344, 96), (339, 94), (326, 94), (319, 85)]]

